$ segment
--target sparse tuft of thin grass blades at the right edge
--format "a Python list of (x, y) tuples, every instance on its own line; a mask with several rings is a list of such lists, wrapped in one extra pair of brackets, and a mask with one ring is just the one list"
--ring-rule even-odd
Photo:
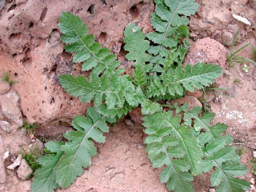
[[(247, 46), (249, 46), (251, 44), (246, 44), (245, 46), (241, 47), (237, 51), (233, 52), (234, 44), (237, 41), (238, 34), (239, 34), (239, 31), (237, 31), (236, 35), (234, 35), (234, 39), (233, 39), (232, 46), (231, 46), (231, 51), (230, 51), (229, 56), (227, 57), (227, 62), (228, 62), (229, 67), (236, 66), (236, 63), (243, 64), (245, 62), (253, 63), (254, 65), (256, 65), (256, 62), (254, 62), (253, 60), (237, 55), (241, 50), (243, 50), (244, 48), (246, 48)], [(254, 53), (254, 57), (255, 57), (255, 50), (253, 51), (253, 53)]]

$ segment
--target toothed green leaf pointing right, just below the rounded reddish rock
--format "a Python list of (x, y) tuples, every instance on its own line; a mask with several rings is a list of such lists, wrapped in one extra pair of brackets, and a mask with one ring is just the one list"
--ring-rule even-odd
[(202, 89), (214, 82), (222, 73), (220, 66), (210, 63), (196, 63), (194, 66), (186, 65), (184, 69), (178, 66), (175, 70), (168, 69), (167, 72), (160, 75), (160, 79), (153, 80), (148, 88), (148, 97), (165, 95), (182, 95), (183, 88), (193, 92), (194, 88)]

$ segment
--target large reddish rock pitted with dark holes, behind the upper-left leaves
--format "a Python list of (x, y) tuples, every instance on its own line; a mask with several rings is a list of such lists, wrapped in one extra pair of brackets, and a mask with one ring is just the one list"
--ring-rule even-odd
[[(81, 65), (74, 64), (72, 55), (63, 51), (57, 26), (60, 14), (70, 11), (78, 15), (88, 24), (89, 33), (96, 40), (124, 60), (121, 47), (125, 26), (136, 22), (145, 26), (144, 32), (152, 31), (153, 1), (140, 2), (6, 2), (0, 16), (0, 71), (11, 71), (11, 78), (16, 81), (14, 89), (20, 96), (20, 108), (30, 123), (73, 118), (84, 114), (89, 105), (69, 96), (58, 82), (61, 74), (81, 74)], [(122, 65), (125, 66), (126, 61), (122, 61)]]

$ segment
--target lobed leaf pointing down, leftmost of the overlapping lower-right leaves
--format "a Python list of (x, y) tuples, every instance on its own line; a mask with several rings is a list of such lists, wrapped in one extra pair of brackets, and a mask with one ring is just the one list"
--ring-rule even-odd
[[(184, 158), (187, 151), (182, 144), (183, 133), (187, 131), (184, 130), (185, 127), (180, 127), (180, 117), (173, 117), (172, 112), (165, 112), (145, 116), (143, 120), (146, 127), (144, 132), (148, 134), (145, 139), (148, 158), (156, 168), (166, 166), (160, 174), (160, 181), (167, 183), (168, 190), (194, 191), (193, 184), (190, 183), (193, 176), (188, 173), (190, 164)], [(178, 136), (172, 134), (174, 132)], [(201, 154), (197, 155), (200, 157)]]

